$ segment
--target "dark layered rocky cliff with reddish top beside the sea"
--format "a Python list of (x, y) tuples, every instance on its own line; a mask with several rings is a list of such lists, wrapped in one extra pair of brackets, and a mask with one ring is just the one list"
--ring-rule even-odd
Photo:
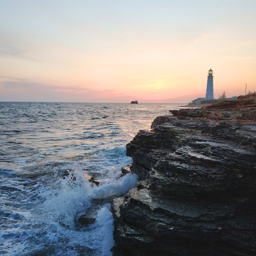
[(170, 112), (126, 146), (113, 255), (256, 255), (256, 95)]

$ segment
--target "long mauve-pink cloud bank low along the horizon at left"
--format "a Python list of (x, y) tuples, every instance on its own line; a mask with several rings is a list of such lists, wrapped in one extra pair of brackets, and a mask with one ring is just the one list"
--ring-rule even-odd
[(92, 89), (79, 86), (59, 86), (28, 81), (0, 83), (1, 101), (79, 101), (120, 102), (132, 96), (109, 89)]

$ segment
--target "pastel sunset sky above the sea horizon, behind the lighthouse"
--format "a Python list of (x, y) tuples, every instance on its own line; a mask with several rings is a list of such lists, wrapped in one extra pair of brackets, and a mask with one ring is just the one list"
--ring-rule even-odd
[(256, 90), (255, 0), (0, 0), (0, 101), (189, 102)]

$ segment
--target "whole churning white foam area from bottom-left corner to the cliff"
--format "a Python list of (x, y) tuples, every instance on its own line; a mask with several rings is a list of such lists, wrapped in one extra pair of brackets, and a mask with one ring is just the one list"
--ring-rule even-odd
[[(109, 202), (108, 197), (125, 193), (136, 184), (137, 176), (127, 174), (116, 179), (120, 170), (110, 169), (97, 187), (84, 178), (83, 164), (75, 164), (73, 169), (76, 180), (71, 176), (63, 179), (56, 172), (44, 185), (33, 185), (37, 199), (31, 203), (30, 211), (13, 208), (6, 212), (9, 223), (0, 230), (0, 240), (4, 241), (0, 244), (0, 253), (112, 255), (113, 217), (110, 204), (104, 203), (104, 198)], [(95, 223), (77, 227), (78, 218), (93, 204), (95, 207), (95, 200), (101, 204), (95, 211)]]

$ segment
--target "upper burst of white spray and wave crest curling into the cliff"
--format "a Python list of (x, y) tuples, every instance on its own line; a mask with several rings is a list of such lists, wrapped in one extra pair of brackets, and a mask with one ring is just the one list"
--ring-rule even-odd
[[(129, 173), (117, 179), (120, 172), (109, 172), (108, 176), (101, 182), (100, 186), (92, 185), (84, 178), (84, 171), (81, 165), (74, 167), (74, 175), (68, 179), (59, 179), (55, 183), (55, 189), (46, 188), (41, 196), (45, 202), (42, 206), (44, 214), (55, 221), (61, 222), (69, 228), (74, 228), (74, 220), (92, 205), (93, 199), (104, 199), (112, 196), (120, 196), (127, 190), (134, 187), (138, 181), (135, 173)], [(78, 217), (77, 217), (78, 216)]]

